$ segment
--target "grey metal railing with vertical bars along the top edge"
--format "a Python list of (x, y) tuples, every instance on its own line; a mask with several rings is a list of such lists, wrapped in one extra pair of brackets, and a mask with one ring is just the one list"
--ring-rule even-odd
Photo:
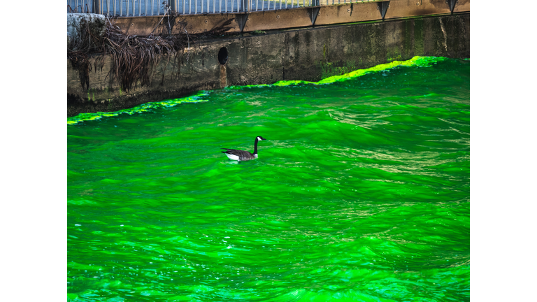
[(67, 0), (67, 12), (138, 17), (164, 15), (166, 10), (171, 8), (181, 15), (195, 15), (246, 13), (378, 1), (380, 0)]

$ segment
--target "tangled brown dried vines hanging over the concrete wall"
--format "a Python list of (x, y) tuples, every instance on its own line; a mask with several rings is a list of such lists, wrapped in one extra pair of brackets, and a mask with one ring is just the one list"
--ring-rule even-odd
[[(90, 87), (89, 73), (92, 71), (90, 55), (96, 54), (94, 70), (102, 71), (104, 59), (107, 55), (112, 58), (113, 66), (106, 75), (111, 80), (119, 83), (121, 89), (128, 92), (136, 87), (138, 80), (140, 85), (150, 85), (151, 75), (163, 55), (174, 55), (179, 50), (189, 48), (195, 43), (194, 38), (206, 38), (208, 36), (220, 36), (231, 29), (232, 19), (222, 25), (211, 29), (203, 34), (188, 34), (186, 22), (178, 20), (178, 15), (173, 10), (167, 10), (162, 18), (162, 23), (167, 29), (167, 34), (158, 36), (136, 36), (124, 34), (114, 23), (115, 20), (106, 17), (105, 32), (102, 37), (94, 36), (90, 26), (83, 20), (76, 41), (72, 41), (71, 48), (67, 50), (67, 57), (71, 60), (73, 68), (80, 75), (80, 83), (83, 89)], [(166, 19), (166, 20), (165, 20)], [(179, 34), (171, 34), (172, 29)]]

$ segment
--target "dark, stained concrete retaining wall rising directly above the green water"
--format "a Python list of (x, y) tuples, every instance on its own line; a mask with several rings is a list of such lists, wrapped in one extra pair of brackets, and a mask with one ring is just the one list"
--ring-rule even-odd
[[(229, 59), (218, 62), (220, 48)], [(236, 36), (197, 43), (174, 57), (165, 57), (151, 85), (128, 94), (107, 77), (112, 62), (90, 72), (90, 87), (80, 85), (78, 71), (67, 62), (67, 115), (115, 111), (149, 101), (171, 99), (224, 85), (257, 85), (278, 80), (317, 81), (331, 75), (415, 55), (470, 57), (470, 14), (418, 17), (365, 24)]]

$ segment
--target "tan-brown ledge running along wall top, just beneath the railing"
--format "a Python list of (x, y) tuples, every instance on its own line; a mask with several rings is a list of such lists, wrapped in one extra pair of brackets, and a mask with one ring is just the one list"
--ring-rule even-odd
[[(337, 1), (337, 0), (336, 0)], [(419, 4), (419, 5), (417, 5)], [(315, 6), (319, 8), (315, 24), (312, 24), (310, 13), (313, 7), (292, 8), (282, 10), (251, 11), (250, 13), (206, 13), (198, 15), (179, 15), (179, 20), (186, 22), (189, 34), (200, 34), (222, 25), (225, 21), (233, 19), (231, 29), (227, 32), (240, 33), (239, 20), (246, 15), (243, 32), (272, 29), (291, 29), (311, 27), (312, 25), (343, 24), (351, 22), (366, 22), (382, 20), (378, 10), (378, 2), (341, 3), (331, 6)], [(459, 0), (455, 4), (454, 13), (470, 12), (470, 0)], [(397, 0), (390, 1), (386, 11), (385, 20), (394, 20), (402, 17), (416, 17), (427, 15), (442, 15), (451, 13), (445, 0)], [(153, 29), (155, 34), (167, 34), (167, 19), (163, 16), (152, 17), (118, 17), (115, 25), (122, 31), (131, 35), (148, 36)], [(180, 34), (181, 28), (171, 29), (172, 34)]]

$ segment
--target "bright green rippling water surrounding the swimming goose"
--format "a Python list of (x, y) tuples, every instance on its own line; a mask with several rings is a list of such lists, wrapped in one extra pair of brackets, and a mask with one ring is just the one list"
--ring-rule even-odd
[(68, 299), (470, 300), (469, 60), (142, 109), (69, 120)]

